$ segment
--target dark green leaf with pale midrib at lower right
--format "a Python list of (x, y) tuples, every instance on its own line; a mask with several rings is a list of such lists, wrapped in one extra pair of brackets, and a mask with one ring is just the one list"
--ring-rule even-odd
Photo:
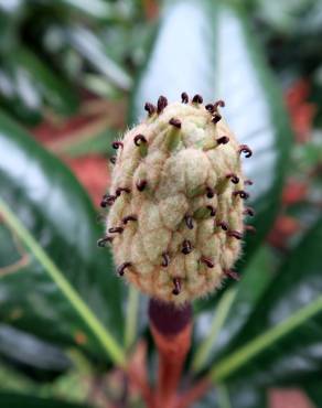
[(289, 254), (230, 354), (214, 364), (215, 382), (298, 383), (321, 373), (322, 218)]

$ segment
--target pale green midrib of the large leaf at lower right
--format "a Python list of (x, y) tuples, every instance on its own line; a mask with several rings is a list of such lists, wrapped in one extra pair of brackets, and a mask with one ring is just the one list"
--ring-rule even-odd
[(286, 336), (309, 319), (322, 311), (322, 296), (304, 308), (301, 308), (290, 318), (283, 320), (272, 329), (267, 330), (253, 341), (237, 348), (236, 352), (219, 361), (210, 373), (213, 382), (223, 382), (265, 348), (272, 345), (276, 341)]

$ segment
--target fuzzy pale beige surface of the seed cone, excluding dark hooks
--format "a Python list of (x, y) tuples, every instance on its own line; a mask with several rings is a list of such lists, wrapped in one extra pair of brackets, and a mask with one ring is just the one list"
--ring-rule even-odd
[[(171, 118), (181, 120), (181, 129), (169, 125)], [(211, 119), (204, 105), (167, 106), (125, 135), (112, 170), (110, 194), (118, 187), (130, 189), (117, 197), (107, 217), (107, 232), (124, 227), (121, 234), (109, 234), (116, 265), (131, 262), (125, 278), (164, 301), (183, 303), (212, 292), (240, 254), (240, 240), (216, 226), (225, 222), (229, 230), (244, 230), (244, 203), (233, 195), (244, 189), (239, 144), (223, 119), (216, 125)], [(146, 157), (133, 143), (138, 133), (148, 141)], [(222, 136), (228, 136), (229, 142), (218, 144)], [(229, 173), (239, 178), (238, 184), (227, 179)], [(140, 192), (136, 185), (142, 180), (147, 187)], [(207, 197), (206, 187), (215, 191), (214, 197)], [(194, 217), (207, 205), (216, 210), (215, 216), (205, 211), (204, 218)], [(125, 225), (127, 215), (138, 219)], [(186, 215), (193, 217), (192, 229)], [(184, 240), (192, 244), (189, 255), (182, 253)], [(170, 257), (168, 267), (162, 266), (164, 253)], [(202, 257), (214, 266), (205, 265)], [(172, 292), (173, 278), (180, 278), (180, 294)]]

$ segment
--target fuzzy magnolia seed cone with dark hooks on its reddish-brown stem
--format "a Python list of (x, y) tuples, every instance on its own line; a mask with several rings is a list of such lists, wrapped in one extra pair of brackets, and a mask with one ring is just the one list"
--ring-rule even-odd
[(172, 407), (181, 367), (189, 351), (190, 302), (238, 279), (233, 270), (242, 251), (248, 198), (239, 144), (219, 108), (201, 95), (157, 106), (130, 129), (110, 161), (111, 185), (101, 206), (109, 207), (106, 236), (120, 277), (151, 297), (151, 332), (160, 354), (158, 399)]

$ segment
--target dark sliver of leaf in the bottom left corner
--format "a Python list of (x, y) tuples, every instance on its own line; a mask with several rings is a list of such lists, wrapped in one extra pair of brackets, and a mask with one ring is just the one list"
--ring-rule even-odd
[(0, 393), (0, 405), (8, 408), (89, 408), (88, 405), (71, 404), (60, 399), (37, 398), (6, 391)]

